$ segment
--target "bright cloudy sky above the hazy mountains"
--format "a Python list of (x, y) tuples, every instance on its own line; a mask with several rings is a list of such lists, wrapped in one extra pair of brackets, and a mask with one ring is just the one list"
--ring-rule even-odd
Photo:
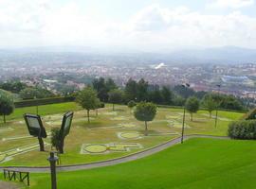
[(256, 0), (0, 0), (0, 47), (256, 48)]

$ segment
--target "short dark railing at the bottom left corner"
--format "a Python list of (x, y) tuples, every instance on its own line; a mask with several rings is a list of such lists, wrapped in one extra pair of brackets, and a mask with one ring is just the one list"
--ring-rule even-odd
[(27, 180), (27, 186), (30, 184), (29, 172), (4, 169), (4, 178), (5, 180), (19, 180), (20, 182), (25, 182), (24, 180)]

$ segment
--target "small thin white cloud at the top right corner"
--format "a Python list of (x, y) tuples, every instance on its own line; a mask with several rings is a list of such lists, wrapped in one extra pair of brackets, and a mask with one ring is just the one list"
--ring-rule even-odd
[(210, 7), (240, 9), (243, 7), (252, 6), (253, 4), (254, 0), (214, 0), (210, 4)]

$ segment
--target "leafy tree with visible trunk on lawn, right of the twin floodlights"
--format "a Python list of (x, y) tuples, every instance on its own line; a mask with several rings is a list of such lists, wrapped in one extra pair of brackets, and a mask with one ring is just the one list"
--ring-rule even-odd
[(87, 111), (88, 123), (90, 123), (90, 111), (95, 110), (99, 103), (97, 92), (91, 87), (84, 88), (77, 96), (78, 103)]

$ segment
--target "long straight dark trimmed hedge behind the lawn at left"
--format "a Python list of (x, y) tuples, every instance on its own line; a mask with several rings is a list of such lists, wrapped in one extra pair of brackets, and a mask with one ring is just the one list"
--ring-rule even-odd
[(30, 99), (14, 102), (15, 108), (31, 107), (31, 106), (41, 106), (46, 104), (56, 104), (63, 102), (73, 102), (75, 101), (74, 96), (65, 97), (51, 97), (51, 98), (40, 98), (40, 99)]

